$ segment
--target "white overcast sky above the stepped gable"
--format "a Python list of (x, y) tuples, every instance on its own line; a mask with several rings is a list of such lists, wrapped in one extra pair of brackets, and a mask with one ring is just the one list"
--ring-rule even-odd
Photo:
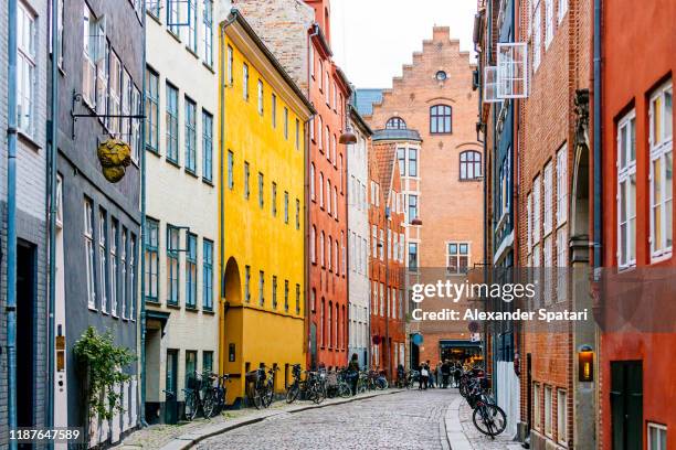
[(334, 58), (355, 86), (391, 87), (434, 25), (472, 51), (475, 11), (476, 0), (332, 0)]

